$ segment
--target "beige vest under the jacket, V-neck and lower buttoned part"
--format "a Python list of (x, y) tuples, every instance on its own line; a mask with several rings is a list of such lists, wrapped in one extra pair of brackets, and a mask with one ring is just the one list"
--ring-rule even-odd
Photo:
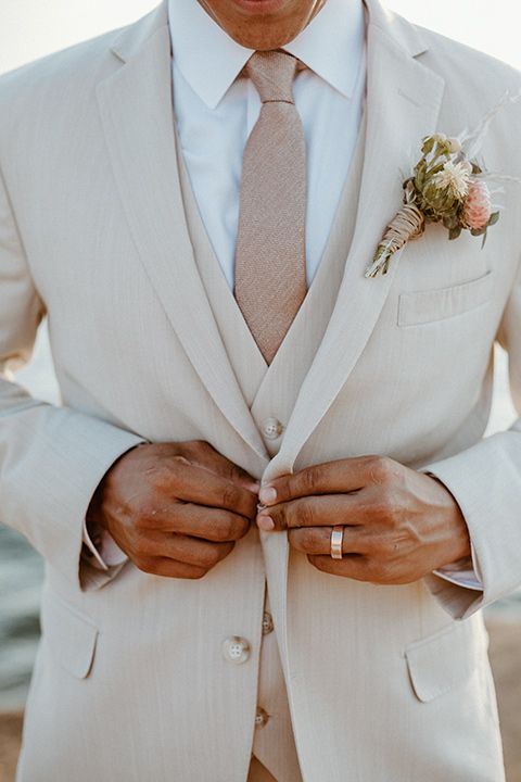
[[(180, 185), (195, 263), (237, 379), (255, 420), (260, 425), (270, 456), (279, 451), (283, 437), (283, 431), (274, 437), (277, 431), (274, 424), (289, 420), (301, 383), (333, 311), (353, 238), (365, 139), (366, 114), (322, 258), (306, 299), (269, 367), (242, 317), (208, 239), (178, 139)], [(278, 782), (301, 782), (267, 593), (265, 609), (253, 754)]]

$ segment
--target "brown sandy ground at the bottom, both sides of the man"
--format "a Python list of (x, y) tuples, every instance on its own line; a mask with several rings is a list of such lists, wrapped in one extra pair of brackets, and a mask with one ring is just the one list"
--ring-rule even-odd
[[(488, 622), (488, 631), (507, 780), (521, 782), (521, 626), (494, 621)], [(0, 782), (14, 782), (21, 729), (22, 715), (0, 714)]]

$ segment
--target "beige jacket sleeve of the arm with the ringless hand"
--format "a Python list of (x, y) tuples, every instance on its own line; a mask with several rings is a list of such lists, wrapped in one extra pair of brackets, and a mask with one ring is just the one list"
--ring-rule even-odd
[(42, 403), (12, 381), (10, 370), (30, 357), (45, 314), (0, 174), (0, 521), (22, 532), (67, 579), (89, 589), (119, 568), (100, 571), (81, 556), (86, 510), (111, 465), (143, 440)]

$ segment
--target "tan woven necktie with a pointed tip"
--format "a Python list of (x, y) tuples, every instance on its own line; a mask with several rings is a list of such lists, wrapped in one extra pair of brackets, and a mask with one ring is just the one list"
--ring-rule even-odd
[(293, 101), (297, 60), (258, 51), (245, 72), (260, 96), (242, 164), (236, 299), (269, 364), (306, 295), (306, 149)]

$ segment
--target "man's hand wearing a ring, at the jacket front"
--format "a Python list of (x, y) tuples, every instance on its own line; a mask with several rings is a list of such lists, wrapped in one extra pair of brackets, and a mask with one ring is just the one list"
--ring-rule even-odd
[[(263, 487), (259, 500), (267, 507), (258, 527), (288, 529), (290, 544), (334, 576), (404, 584), (470, 554), (467, 525), (448, 489), (387, 457), (308, 467)], [(331, 558), (334, 525), (345, 526), (342, 559)]]

